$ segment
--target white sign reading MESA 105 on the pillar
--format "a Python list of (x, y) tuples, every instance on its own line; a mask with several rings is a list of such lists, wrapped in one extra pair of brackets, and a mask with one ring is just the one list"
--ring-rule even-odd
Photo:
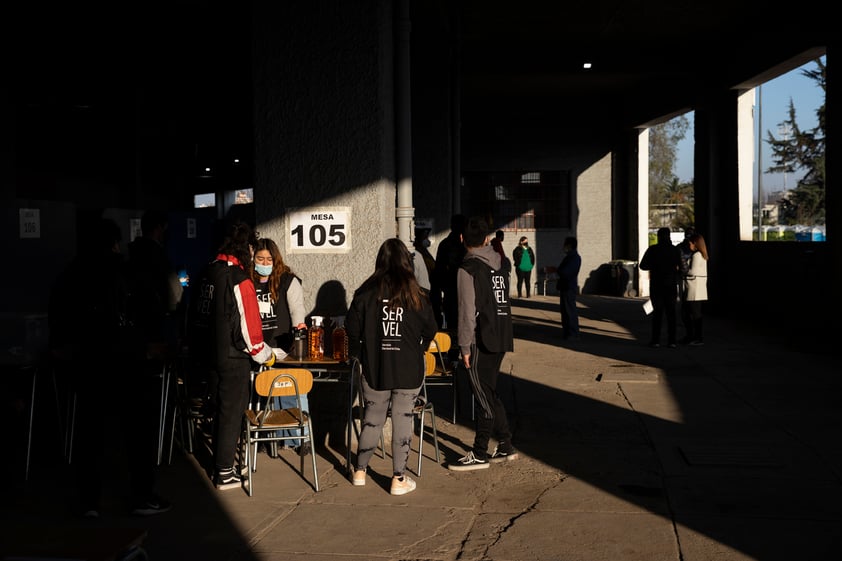
[(351, 250), (351, 209), (295, 210), (289, 214), (288, 251), (346, 253)]

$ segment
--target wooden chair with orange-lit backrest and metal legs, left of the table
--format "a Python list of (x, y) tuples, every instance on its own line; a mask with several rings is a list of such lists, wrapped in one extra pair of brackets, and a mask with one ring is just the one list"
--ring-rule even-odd
[[(316, 467), (316, 447), (313, 443), (313, 425), (310, 414), (301, 408), (301, 395), (313, 389), (313, 373), (306, 368), (270, 368), (259, 372), (254, 379), (254, 390), (266, 399), (266, 409), (249, 408), (243, 415), (242, 443), (246, 461), (245, 479), (249, 496), (254, 495), (254, 473), (257, 471), (257, 445), (300, 440), (310, 443), (313, 464), (313, 488), (319, 491), (319, 471)], [(281, 396), (295, 396), (296, 407), (278, 409), (276, 400)], [(298, 429), (298, 434), (281, 435), (279, 431)], [(304, 477), (305, 456), (301, 455), (301, 477)]]

